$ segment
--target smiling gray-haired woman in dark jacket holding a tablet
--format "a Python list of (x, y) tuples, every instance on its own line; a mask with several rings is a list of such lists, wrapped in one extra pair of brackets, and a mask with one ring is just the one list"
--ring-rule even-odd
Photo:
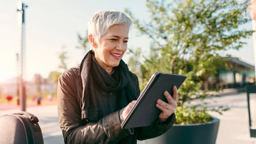
[(140, 95), (138, 77), (122, 60), (131, 24), (124, 13), (114, 10), (99, 11), (89, 21), (88, 40), (93, 50), (58, 82), (58, 117), (65, 143), (136, 144), (162, 135), (173, 125), (176, 87), (173, 98), (164, 93), (168, 103), (156, 102), (162, 112), (154, 125), (121, 128)]

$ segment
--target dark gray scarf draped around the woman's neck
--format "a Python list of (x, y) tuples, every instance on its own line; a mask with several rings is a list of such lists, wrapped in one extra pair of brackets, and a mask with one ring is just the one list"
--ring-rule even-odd
[(93, 90), (93, 84), (96, 83), (99, 89), (111, 93), (120, 91), (120, 107), (126, 107), (131, 101), (136, 100), (134, 90), (129, 83), (129, 69), (123, 60), (117, 67), (114, 67), (115, 73), (111, 77), (107, 71), (102, 68), (94, 58), (94, 52), (89, 51), (82, 60), (79, 68), (79, 76), (83, 88), (82, 100), (80, 103), (82, 109), (82, 119), (99, 120), (102, 116), (99, 113), (96, 96)]

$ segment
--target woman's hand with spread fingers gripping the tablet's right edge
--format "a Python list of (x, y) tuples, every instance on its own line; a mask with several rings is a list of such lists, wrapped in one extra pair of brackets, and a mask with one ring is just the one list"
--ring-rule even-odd
[(159, 118), (161, 119), (161, 122), (165, 122), (167, 118), (173, 114), (177, 107), (177, 101), (178, 101), (178, 90), (177, 87), (174, 86), (173, 88), (173, 97), (167, 92), (164, 92), (164, 96), (166, 97), (168, 103), (158, 99), (156, 107), (158, 107), (162, 112), (159, 115)]

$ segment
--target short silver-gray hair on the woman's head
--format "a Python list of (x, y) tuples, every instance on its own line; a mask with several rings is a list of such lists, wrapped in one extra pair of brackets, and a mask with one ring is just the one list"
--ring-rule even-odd
[(115, 10), (100, 10), (88, 22), (88, 35), (92, 34), (96, 42), (104, 36), (115, 24), (124, 24), (131, 28), (132, 20), (123, 12)]

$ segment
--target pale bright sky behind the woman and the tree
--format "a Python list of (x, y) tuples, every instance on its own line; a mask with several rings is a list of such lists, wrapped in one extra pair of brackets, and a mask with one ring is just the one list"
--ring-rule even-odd
[[(136, 18), (149, 21), (146, 0), (120, 1), (112, 0), (24, 0), (26, 9), (26, 79), (32, 80), (34, 74), (47, 78), (51, 71), (58, 70), (60, 61), (58, 55), (66, 45), (68, 52), (67, 66), (71, 67), (81, 62), (84, 50), (77, 49), (79, 45), (77, 34), (85, 35), (87, 22), (102, 9), (114, 9), (124, 12), (129, 8)], [(18, 29), (18, 0), (4, 0), (0, 5), (0, 82), (17, 76), (16, 53), (20, 53), (20, 38)], [(252, 23), (245, 25), (251, 29)], [(132, 28), (129, 32), (128, 48), (149, 50), (150, 41), (146, 36), (138, 36), (138, 31)], [(254, 65), (252, 37), (245, 40), (239, 51), (230, 50), (227, 53), (239, 57), (242, 61)], [(129, 55), (123, 60), (128, 62)]]

